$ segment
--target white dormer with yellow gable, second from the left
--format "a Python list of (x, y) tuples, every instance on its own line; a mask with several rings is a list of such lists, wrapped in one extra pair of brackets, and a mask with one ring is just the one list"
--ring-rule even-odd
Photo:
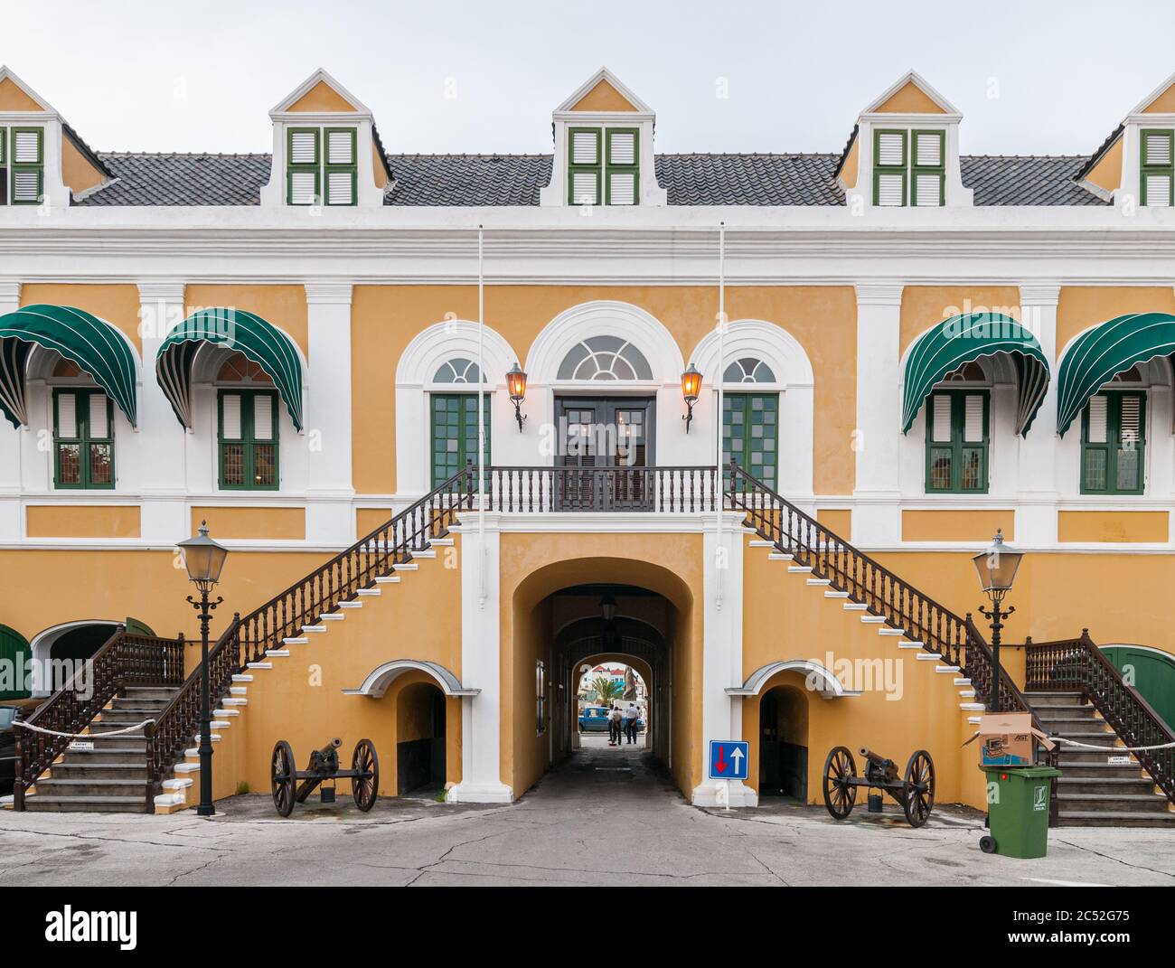
[(371, 112), (318, 68), (271, 112), (274, 161), (261, 204), (376, 208), (390, 186)]

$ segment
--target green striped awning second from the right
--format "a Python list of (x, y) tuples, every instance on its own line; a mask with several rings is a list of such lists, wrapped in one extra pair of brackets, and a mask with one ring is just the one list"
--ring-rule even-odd
[(1016, 433), (1026, 435), (1048, 390), (1048, 361), (1036, 337), (1001, 312), (952, 316), (918, 337), (906, 359), (901, 432), (909, 431), (931, 390), (947, 374), (999, 354), (1007, 354), (1016, 368)]

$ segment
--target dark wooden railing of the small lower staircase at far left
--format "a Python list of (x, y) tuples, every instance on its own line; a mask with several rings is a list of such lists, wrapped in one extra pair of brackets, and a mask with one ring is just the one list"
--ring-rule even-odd
[[(182, 634), (176, 639), (130, 636), (126, 626), (120, 625), (106, 644), (86, 660), (86, 667), (78, 670), (26, 721), (58, 733), (80, 733), (115, 695), (125, 695), (127, 686), (177, 686), (182, 681)], [(65, 752), (70, 740), (19, 727), (15, 734), (13, 808), (22, 811), (26, 791)]]

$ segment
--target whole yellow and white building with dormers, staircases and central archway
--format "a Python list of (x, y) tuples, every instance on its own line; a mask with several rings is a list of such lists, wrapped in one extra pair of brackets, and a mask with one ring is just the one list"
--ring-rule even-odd
[[(600, 70), (536, 119), (549, 155), (421, 156), (320, 70), (271, 154), (181, 156), (94, 152), (5, 68), (0, 660), (31, 678), (0, 697), (54, 697), (123, 625), (183, 632), (190, 695), (176, 545), (207, 522), (219, 796), (340, 735), (385, 795), (510, 802), (615, 659), (691, 802), (820, 802), (827, 752), (867, 746), (981, 807), (971, 557), (1001, 530), (1016, 701), (1059, 681), (1026, 640), (1088, 628), (1162, 718), (1167, 89), (1089, 157), (960, 155), (915, 74), (840, 154), (660, 155)], [(160, 701), (166, 812), (199, 769)], [(714, 740), (748, 742), (745, 781)], [(1135, 772), (1150, 795), (1170, 765)]]

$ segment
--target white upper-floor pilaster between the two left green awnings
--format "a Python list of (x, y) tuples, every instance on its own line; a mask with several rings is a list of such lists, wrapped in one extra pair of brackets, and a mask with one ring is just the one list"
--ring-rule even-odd
[(180, 542), (190, 537), (187, 512), (187, 429), (155, 378), (159, 348), (167, 334), (183, 322), (183, 282), (139, 283), (139, 337), (142, 340), (142, 375), (139, 383), (140, 465), (142, 488), (142, 539)]

